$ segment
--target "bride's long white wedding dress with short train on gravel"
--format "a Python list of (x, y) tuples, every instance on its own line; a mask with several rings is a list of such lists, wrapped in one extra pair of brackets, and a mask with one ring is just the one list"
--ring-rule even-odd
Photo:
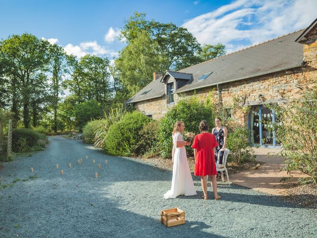
[(183, 141), (183, 135), (179, 132), (173, 135), (173, 178), (172, 187), (164, 194), (164, 198), (175, 198), (179, 195), (196, 195), (192, 175), (189, 170), (185, 146), (176, 147), (176, 141)]

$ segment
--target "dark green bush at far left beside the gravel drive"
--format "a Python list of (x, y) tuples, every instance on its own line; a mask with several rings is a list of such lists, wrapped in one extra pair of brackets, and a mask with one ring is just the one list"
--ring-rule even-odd
[(33, 131), (28, 128), (12, 130), (12, 151), (23, 153), (34, 150), (33, 147), (45, 148), (48, 139), (45, 134)]

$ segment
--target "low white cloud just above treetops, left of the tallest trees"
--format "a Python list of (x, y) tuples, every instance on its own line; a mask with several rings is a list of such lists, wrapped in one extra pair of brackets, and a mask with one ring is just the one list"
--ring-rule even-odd
[(97, 55), (97, 56), (108, 56), (108, 57), (117, 57), (118, 53), (112, 50), (106, 49), (105, 46), (101, 46), (97, 43), (97, 41), (88, 41), (82, 42), (79, 46), (73, 46), (72, 44), (68, 44), (64, 47), (64, 50), (67, 54), (73, 54), (74, 56), (80, 58), (87, 54)]

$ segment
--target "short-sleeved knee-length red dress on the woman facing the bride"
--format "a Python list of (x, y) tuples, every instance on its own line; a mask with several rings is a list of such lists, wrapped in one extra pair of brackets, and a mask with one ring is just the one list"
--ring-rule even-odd
[(196, 149), (195, 176), (216, 175), (213, 148), (218, 146), (216, 138), (209, 132), (195, 136), (192, 148)]

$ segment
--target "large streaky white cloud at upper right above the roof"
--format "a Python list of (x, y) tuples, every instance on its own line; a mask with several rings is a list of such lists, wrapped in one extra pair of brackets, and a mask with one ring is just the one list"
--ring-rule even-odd
[(201, 44), (222, 43), (228, 53), (309, 26), (315, 0), (236, 0), (186, 21)]

